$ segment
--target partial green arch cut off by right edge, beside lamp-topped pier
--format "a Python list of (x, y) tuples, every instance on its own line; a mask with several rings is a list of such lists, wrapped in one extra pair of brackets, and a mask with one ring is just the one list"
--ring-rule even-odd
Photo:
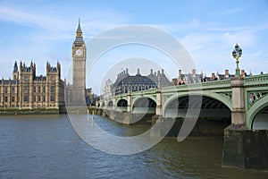
[[(268, 107), (268, 95), (259, 99), (247, 111), (247, 127), (253, 129), (253, 123), (256, 115), (260, 114), (266, 107)], [(268, 120), (268, 119), (267, 119)]]

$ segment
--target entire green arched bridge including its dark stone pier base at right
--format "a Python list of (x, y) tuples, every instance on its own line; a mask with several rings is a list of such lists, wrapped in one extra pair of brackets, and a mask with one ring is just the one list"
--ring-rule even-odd
[(195, 107), (200, 108), (198, 121), (230, 118), (224, 126), (222, 166), (268, 167), (268, 74), (140, 90), (96, 103), (98, 111), (123, 118), (124, 124), (136, 123), (131, 116), (142, 114), (187, 120), (188, 108)]

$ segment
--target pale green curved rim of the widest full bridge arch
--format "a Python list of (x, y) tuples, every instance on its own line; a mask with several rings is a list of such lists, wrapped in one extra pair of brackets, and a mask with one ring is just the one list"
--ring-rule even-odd
[[(200, 98), (205, 98), (205, 100), (208, 100), (209, 98), (211, 98), (212, 100), (214, 100), (214, 103), (215, 102), (219, 102), (217, 104), (207, 104), (208, 107), (213, 107), (212, 105), (224, 105), (225, 107), (227, 107), (230, 111), (232, 109), (232, 105), (231, 105), (231, 101), (228, 100), (228, 98), (226, 97), (223, 97), (222, 95), (220, 94), (217, 94), (217, 93), (211, 93), (211, 92), (206, 92), (206, 91), (202, 91), (201, 92), (184, 92), (184, 93), (180, 93), (180, 94), (174, 94), (172, 95), (172, 97), (168, 98), (166, 100), (166, 102), (163, 104), (163, 116), (166, 117), (166, 110), (167, 110), (167, 107), (169, 107), (169, 105), (174, 101), (174, 100), (177, 100), (179, 98), (185, 98), (185, 97), (188, 97), (188, 96), (191, 96), (191, 97), (200, 97)], [(185, 100), (185, 99), (184, 99)], [(204, 103), (204, 101), (202, 101), (202, 103)], [(220, 104), (221, 103), (221, 104)], [(204, 106), (202, 104), (202, 106)]]

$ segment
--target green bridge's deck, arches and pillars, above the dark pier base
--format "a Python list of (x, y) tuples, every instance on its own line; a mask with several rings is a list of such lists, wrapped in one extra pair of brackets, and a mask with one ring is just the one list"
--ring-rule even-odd
[(268, 120), (264, 120), (264, 116), (268, 118), (268, 74), (139, 90), (99, 100), (96, 106), (134, 114), (155, 113), (164, 118), (172, 117), (172, 108), (177, 106), (179, 112), (176, 117), (180, 117), (185, 115), (189, 106), (193, 106), (188, 98), (193, 97), (190, 102), (195, 103), (194, 97), (200, 96), (200, 115), (220, 117), (230, 111), (231, 124), (246, 124), (248, 129), (268, 130)]

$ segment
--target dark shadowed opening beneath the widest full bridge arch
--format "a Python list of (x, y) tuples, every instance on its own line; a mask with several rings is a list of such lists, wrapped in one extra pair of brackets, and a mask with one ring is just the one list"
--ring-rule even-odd
[[(201, 102), (202, 99), (202, 102)], [(192, 112), (188, 107), (200, 107)], [(197, 114), (199, 112), (199, 114)], [(196, 116), (197, 115), (197, 116)], [(189, 120), (193, 124), (190, 135), (223, 135), (224, 129), (231, 124), (231, 110), (219, 99), (211, 95), (185, 92), (173, 95), (166, 100), (163, 107), (163, 117), (174, 119), (171, 131), (168, 136), (178, 136), (181, 130), (185, 130)], [(186, 126), (186, 128), (182, 128)]]

